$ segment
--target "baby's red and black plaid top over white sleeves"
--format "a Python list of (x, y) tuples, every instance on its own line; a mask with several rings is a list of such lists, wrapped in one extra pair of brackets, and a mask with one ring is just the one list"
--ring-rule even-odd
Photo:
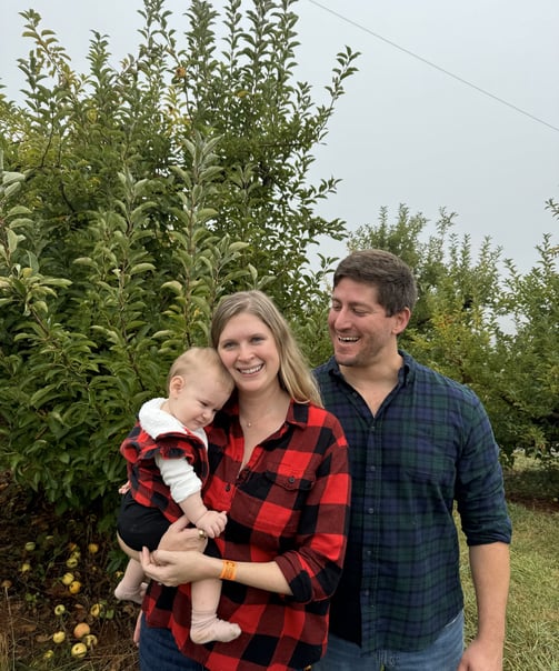
[(202, 484), (208, 478), (208, 454), (202, 441), (184, 428), (151, 438), (138, 422), (120, 445), (127, 460), (128, 479), (132, 499), (148, 508), (159, 508), (170, 522), (184, 514), (172, 500), (171, 490), (163, 482), (156, 455), (163, 459), (187, 459)]

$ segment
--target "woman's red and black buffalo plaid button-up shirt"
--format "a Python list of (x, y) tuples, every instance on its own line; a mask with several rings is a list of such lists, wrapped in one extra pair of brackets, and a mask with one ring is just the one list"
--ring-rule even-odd
[(243, 437), (238, 410), (230, 410), (209, 433), (204, 500), (227, 511), (229, 521), (208, 551), (236, 561), (276, 560), (293, 595), (223, 581), (218, 614), (242, 630), (230, 643), (190, 641), (189, 585), (152, 583), (146, 618), (171, 629), (184, 655), (210, 671), (302, 669), (325, 653), (329, 598), (342, 569), (350, 501), (346, 439), (326, 410), (291, 403), (286, 423), (240, 471)]

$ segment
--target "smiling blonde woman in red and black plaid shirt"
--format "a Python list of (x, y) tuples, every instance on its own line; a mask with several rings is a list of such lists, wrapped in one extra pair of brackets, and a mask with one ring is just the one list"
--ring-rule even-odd
[[(350, 480), (338, 420), (323, 410), (285, 319), (259, 291), (226, 297), (211, 340), (237, 392), (209, 430), (207, 504), (228, 515), (202, 554), (197, 531), (176, 524), (142, 565), (142, 671), (283, 671), (323, 652), (329, 598), (346, 549)], [(190, 551), (169, 551), (168, 549)], [(191, 581), (222, 579), (219, 617), (229, 643), (189, 639)], [(169, 589), (166, 585), (180, 585)]]

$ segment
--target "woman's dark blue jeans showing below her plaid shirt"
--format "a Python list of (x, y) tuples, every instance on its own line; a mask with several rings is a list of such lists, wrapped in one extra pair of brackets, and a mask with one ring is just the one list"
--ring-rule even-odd
[(168, 629), (154, 629), (146, 624), (142, 615), (140, 630), (140, 671), (203, 671), (177, 648)]

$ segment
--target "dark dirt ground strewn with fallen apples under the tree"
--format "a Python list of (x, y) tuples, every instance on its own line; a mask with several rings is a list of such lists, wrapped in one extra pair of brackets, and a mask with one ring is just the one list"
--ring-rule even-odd
[[(131, 637), (139, 608), (112, 595), (116, 555), (112, 539), (92, 537), (90, 519), (61, 520), (53, 507), (27, 497), (9, 473), (0, 473), (0, 671), (136, 670)], [(78, 592), (62, 583), (66, 573), (81, 583)], [(100, 615), (93, 617), (97, 604)], [(56, 614), (57, 607), (64, 612)], [(81, 659), (71, 654), (79, 622), (97, 637)], [(59, 631), (66, 635), (57, 644), (52, 634)]]

